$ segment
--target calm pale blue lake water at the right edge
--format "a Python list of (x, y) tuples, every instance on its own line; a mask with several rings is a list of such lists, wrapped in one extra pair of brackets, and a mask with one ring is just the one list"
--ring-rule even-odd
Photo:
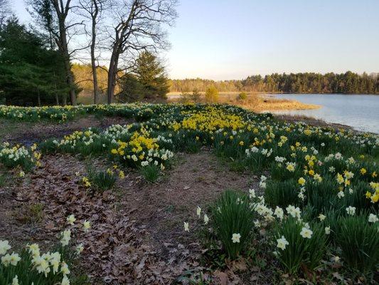
[(348, 125), (356, 130), (379, 134), (379, 95), (280, 94), (273, 96), (321, 105), (321, 108), (270, 111), (270, 113), (306, 115), (327, 123)]

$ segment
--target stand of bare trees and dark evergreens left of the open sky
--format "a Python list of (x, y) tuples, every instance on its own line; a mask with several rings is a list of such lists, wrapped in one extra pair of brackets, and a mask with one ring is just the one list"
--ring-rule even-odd
[[(101, 93), (108, 103), (116, 92), (130, 95), (117, 86), (131, 80), (146, 95), (165, 89), (156, 55), (169, 47), (166, 27), (177, 17), (176, 0), (26, 0), (31, 27), (11, 16), (7, 1), (0, 0), (0, 100), (6, 104), (75, 105), (74, 62), (90, 66), (94, 103)], [(149, 83), (140, 73), (145, 63), (155, 65)]]

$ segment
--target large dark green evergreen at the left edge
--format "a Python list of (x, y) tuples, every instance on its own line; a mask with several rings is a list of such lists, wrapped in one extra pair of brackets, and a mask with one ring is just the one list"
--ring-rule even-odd
[(59, 53), (46, 39), (11, 17), (0, 30), (0, 96), (3, 103), (41, 105), (68, 92)]

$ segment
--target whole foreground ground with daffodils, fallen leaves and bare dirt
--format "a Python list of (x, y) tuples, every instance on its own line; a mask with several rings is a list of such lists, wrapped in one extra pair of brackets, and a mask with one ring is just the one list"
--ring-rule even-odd
[(35, 145), (9, 135), (0, 147), (4, 284), (27, 264), (8, 259), (34, 242), (42, 257), (57, 237), (60, 273), (58, 254), (43, 271), (31, 251), (28, 269), (45, 282), (35, 284), (378, 279), (377, 135), (232, 105), (2, 107), (0, 117), (54, 125)]

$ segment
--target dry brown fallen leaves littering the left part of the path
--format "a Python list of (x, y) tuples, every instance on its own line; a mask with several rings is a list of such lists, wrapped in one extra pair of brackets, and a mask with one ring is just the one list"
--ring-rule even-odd
[[(75, 172), (85, 174), (84, 163), (75, 157), (46, 156), (43, 167), (36, 170), (31, 180), (15, 187), (18, 197), (44, 205), (43, 235), (36, 239), (55, 242), (56, 234), (67, 226), (66, 217), (74, 214), (77, 219), (74, 232), (78, 234), (73, 240), (85, 247), (83, 271), (108, 284), (168, 284), (183, 271), (202, 269), (197, 261), (198, 252), (193, 250), (199, 249), (198, 243), (186, 246), (167, 239), (160, 244), (154, 238), (151, 231), (156, 227), (151, 227), (149, 218), (156, 213), (144, 209), (147, 198), (136, 188), (140, 184), (136, 175), (127, 175), (122, 180), (121, 187), (135, 193), (131, 199), (125, 192), (122, 197), (116, 197), (112, 191), (91, 194)], [(156, 211), (161, 213), (161, 208)], [(81, 225), (85, 219), (92, 224), (87, 234)]]

